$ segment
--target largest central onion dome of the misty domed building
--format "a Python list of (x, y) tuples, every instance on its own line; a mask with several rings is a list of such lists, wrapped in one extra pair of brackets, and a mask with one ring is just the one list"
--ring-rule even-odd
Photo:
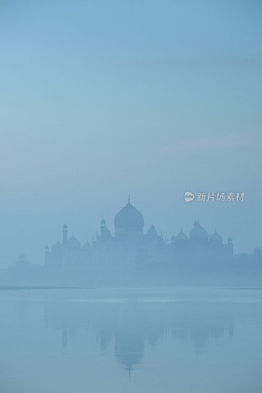
[(143, 235), (144, 217), (130, 202), (116, 213), (114, 224), (118, 238)]

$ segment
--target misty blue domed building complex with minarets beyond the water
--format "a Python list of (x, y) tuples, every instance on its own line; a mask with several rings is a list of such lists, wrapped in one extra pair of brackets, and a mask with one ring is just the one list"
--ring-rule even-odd
[(154, 225), (144, 233), (144, 217), (128, 197), (128, 203), (116, 213), (115, 236), (100, 222), (100, 234), (92, 244), (82, 247), (74, 234), (68, 239), (68, 227), (63, 225), (62, 243), (57, 241), (51, 250), (45, 249), (45, 266), (54, 269), (136, 269), (173, 263), (183, 260), (228, 260), (233, 257), (232, 237), (227, 244), (219, 233), (208, 235), (200, 222), (195, 220), (187, 236), (183, 230), (171, 240), (157, 233)]

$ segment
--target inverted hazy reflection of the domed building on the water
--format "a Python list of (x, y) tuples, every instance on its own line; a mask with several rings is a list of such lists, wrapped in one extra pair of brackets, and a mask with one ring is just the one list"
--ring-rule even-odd
[[(87, 292), (83, 292), (85, 297), (84, 293)], [(99, 294), (98, 290), (90, 296)], [(214, 307), (213, 302), (185, 301), (177, 302), (174, 307), (172, 302), (129, 302), (126, 291), (123, 302), (108, 302), (110, 292), (104, 292), (104, 296), (105, 299), (99, 296), (97, 302), (93, 299), (92, 302), (46, 302), (46, 328), (60, 330), (64, 350), (84, 330), (87, 335), (90, 333), (89, 340), (100, 343), (101, 356), (114, 351), (117, 362), (130, 374), (143, 363), (148, 347), (157, 342), (169, 340), (175, 351), (177, 341), (190, 340), (200, 352), (210, 340), (233, 336), (233, 304), (229, 302), (217, 302)], [(132, 299), (132, 291), (129, 296)], [(150, 293), (149, 298), (152, 297), (154, 293)], [(86, 346), (87, 351), (89, 347)]]

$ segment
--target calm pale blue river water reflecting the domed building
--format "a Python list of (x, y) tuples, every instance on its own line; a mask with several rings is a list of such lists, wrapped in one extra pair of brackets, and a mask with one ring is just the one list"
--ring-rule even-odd
[(262, 290), (0, 291), (1, 393), (261, 393)]

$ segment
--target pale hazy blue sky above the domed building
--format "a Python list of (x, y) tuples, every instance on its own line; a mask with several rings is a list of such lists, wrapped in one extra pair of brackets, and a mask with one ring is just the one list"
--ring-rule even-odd
[[(260, 1), (2, 1), (0, 264), (131, 202), (262, 246)], [(245, 192), (243, 203), (183, 193)]]

